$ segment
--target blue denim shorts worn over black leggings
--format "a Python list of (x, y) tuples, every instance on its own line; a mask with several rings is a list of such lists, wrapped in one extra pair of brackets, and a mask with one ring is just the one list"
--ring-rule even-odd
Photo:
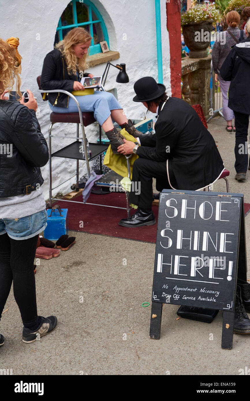
[(0, 219), (0, 235), (7, 233), (12, 239), (28, 239), (41, 233), (47, 226), (47, 211), (34, 213), (19, 219)]

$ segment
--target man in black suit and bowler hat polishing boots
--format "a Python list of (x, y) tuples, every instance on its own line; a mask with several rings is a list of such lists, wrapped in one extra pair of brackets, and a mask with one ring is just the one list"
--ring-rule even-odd
[[(158, 191), (165, 189), (203, 190), (213, 184), (224, 170), (214, 139), (196, 111), (184, 100), (169, 97), (166, 87), (152, 77), (134, 84), (135, 102), (142, 102), (157, 113), (155, 134), (141, 134), (140, 146), (124, 139), (118, 152), (138, 154), (133, 164), (132, 182), (140, 182), (140, 194), (130, 192), (136, 213), (119, 225), (139, 227), (156, 223), (152, 212), (152, 178)], [(138, 185), (132, 185), (138, 188)]]

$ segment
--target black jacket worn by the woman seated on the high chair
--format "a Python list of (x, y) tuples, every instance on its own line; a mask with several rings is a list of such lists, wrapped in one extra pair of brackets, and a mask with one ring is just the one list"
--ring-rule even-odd
[[(87, 77), (88, 74), (83, 74)], [(60, 50), (54, 49), (49, 52), (43, 62), (40, 85), (43, 90), (63, 89), (73, 92), (76, 75), (69, 75), (67, 64)], [(65, 93), (48, 93), (49, 103), (56, 107), (68, 107), (69, 96)]]

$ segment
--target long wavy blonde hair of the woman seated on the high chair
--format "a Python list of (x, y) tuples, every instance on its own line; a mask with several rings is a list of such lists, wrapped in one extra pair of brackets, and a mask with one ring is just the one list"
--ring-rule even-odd
[(69, 74), (73, 73), (76, 75), (77, 69), (79, 71), (84, 71), (88, 67), (86, 62), (87, 55), (83, 55), (81, 59), (78, 59), (73, 50), (73, 46), (88, 42), (91, 39), (92, 37), (89, 32), (86, 29), (79, 27), (71, 29), (65, 35), (65, 38), (55, 45), (65, 58)]

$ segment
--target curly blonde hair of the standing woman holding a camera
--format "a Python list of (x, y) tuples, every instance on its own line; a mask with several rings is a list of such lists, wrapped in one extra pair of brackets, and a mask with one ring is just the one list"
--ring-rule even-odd
[(16, 50), (0, 38), (0, 93), (12, 91), (16, 79), (16, 92), (21, 99), (21, 79), (16, 61)]

